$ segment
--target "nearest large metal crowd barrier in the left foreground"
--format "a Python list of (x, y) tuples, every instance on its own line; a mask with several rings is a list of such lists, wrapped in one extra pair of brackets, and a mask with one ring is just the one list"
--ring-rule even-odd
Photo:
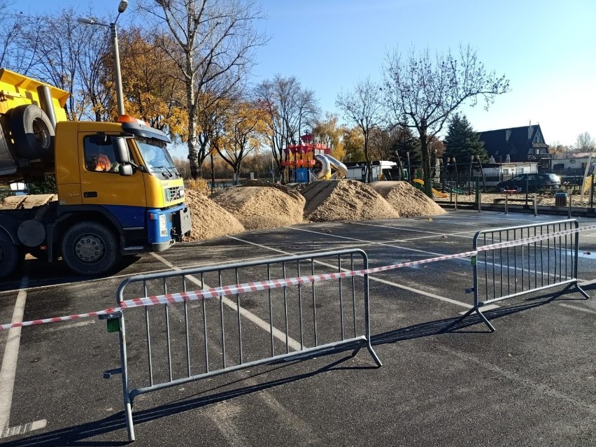
[[(370, 341), (368, 274), (316, 284), (304, 277), (360, 269), (368, 269), (364, 251), (339, 250), (139, 275), (123, 281), (117, 292), (121, 311), (108, 315), (108, 330), (112, 326), (113, 332), (120, 333), (120, 368), (104, 376), (122, 374), (129, 439), (135, 439), (132, 403), (148, 392), (261, 364), (304, 360), (318, 353), (352, 348), (356, 355), (363, 346), (381, 367)], [(301, 278), (295, 285), (283, 281), (296, 277)], [(250, 293), (229, 297), (221, 293), (213, 299), (188, 298), (193, 292), (187, 288), (228, 289), (225, 285), (251, 281), (250, 287), (264, 279), (283, 287), (252, 287)], [(168, 302), (174, 295), (183, 297), (183, 302)], [(135, 299), (127, 301), (127, 297)], [(146, 301), (139, 297), (160, 304), (141, 306)], [(138, 307), (127, 308), (127, 302), (133, 301)], [(143, 368), (138, 368), (140, 357), (146, 365)]]

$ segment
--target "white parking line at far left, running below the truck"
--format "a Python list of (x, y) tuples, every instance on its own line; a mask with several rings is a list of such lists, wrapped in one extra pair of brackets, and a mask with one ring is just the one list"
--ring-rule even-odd
[[(27, 301), (27, 275), (21, 279), (19, 295), (13, 311), (13, 323), (22, 322), (24, 305)], [(17, 359), (19, 357), (19, 346), (21, 340), (21, 328), (11, 327), (8, 329), (8, 339), (4, 348), (2, 367), (0, 368), (0, 430), (8, 428), (10, 420), (10, 406), (13, 403), (13, 388), (15, 387), (15, 374), (17, 371)]]

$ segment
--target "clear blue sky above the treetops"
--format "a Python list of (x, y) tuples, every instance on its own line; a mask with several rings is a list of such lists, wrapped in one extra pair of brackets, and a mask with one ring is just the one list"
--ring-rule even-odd
[[(13, 8), (90, 6), (112, 15), (118, 2), (20, 0)], [(582, 132), (596, 137), (593, 0), (263, 0), (262, 6), (268, 19), (258, 26), (271, 40), (257, 52), (255, 81), (296, 76), (315, 91), (322, 111), (336, 112), (336, 95), (357, 80), (380, 80), (388, 52), (457, 51), (469, 43), (487, 69), (511, 81), (511, 92), (488, 111), (481, 104), (461, 109), (478, 132), (531, 121), (547, 143), (572, 145)], [(132, 19), (129, 8), (120, 20)]]

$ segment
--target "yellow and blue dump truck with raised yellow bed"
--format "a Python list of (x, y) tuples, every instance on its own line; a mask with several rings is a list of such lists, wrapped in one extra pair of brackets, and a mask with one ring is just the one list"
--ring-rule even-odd
[(162, 251), (190, 232), (183, 179), (166, 134), (127, 115), (66, 120), (68, 93), (0, 69), (0, 182), (54, 174), (58, 200), (0, 211), (0, 278), (27, 253), (80, 275), (122, 255)]

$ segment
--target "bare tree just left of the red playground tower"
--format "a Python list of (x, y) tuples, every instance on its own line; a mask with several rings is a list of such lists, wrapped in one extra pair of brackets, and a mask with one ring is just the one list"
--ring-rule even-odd
[(303, 89), (295, 76), (276, 75), (257, 86), (257, 98), (269, 114), (269, 146), (278, 169), (283, 149), (295, 143), (303, 129), (313, 129), (320, 113), (313, 90)]

